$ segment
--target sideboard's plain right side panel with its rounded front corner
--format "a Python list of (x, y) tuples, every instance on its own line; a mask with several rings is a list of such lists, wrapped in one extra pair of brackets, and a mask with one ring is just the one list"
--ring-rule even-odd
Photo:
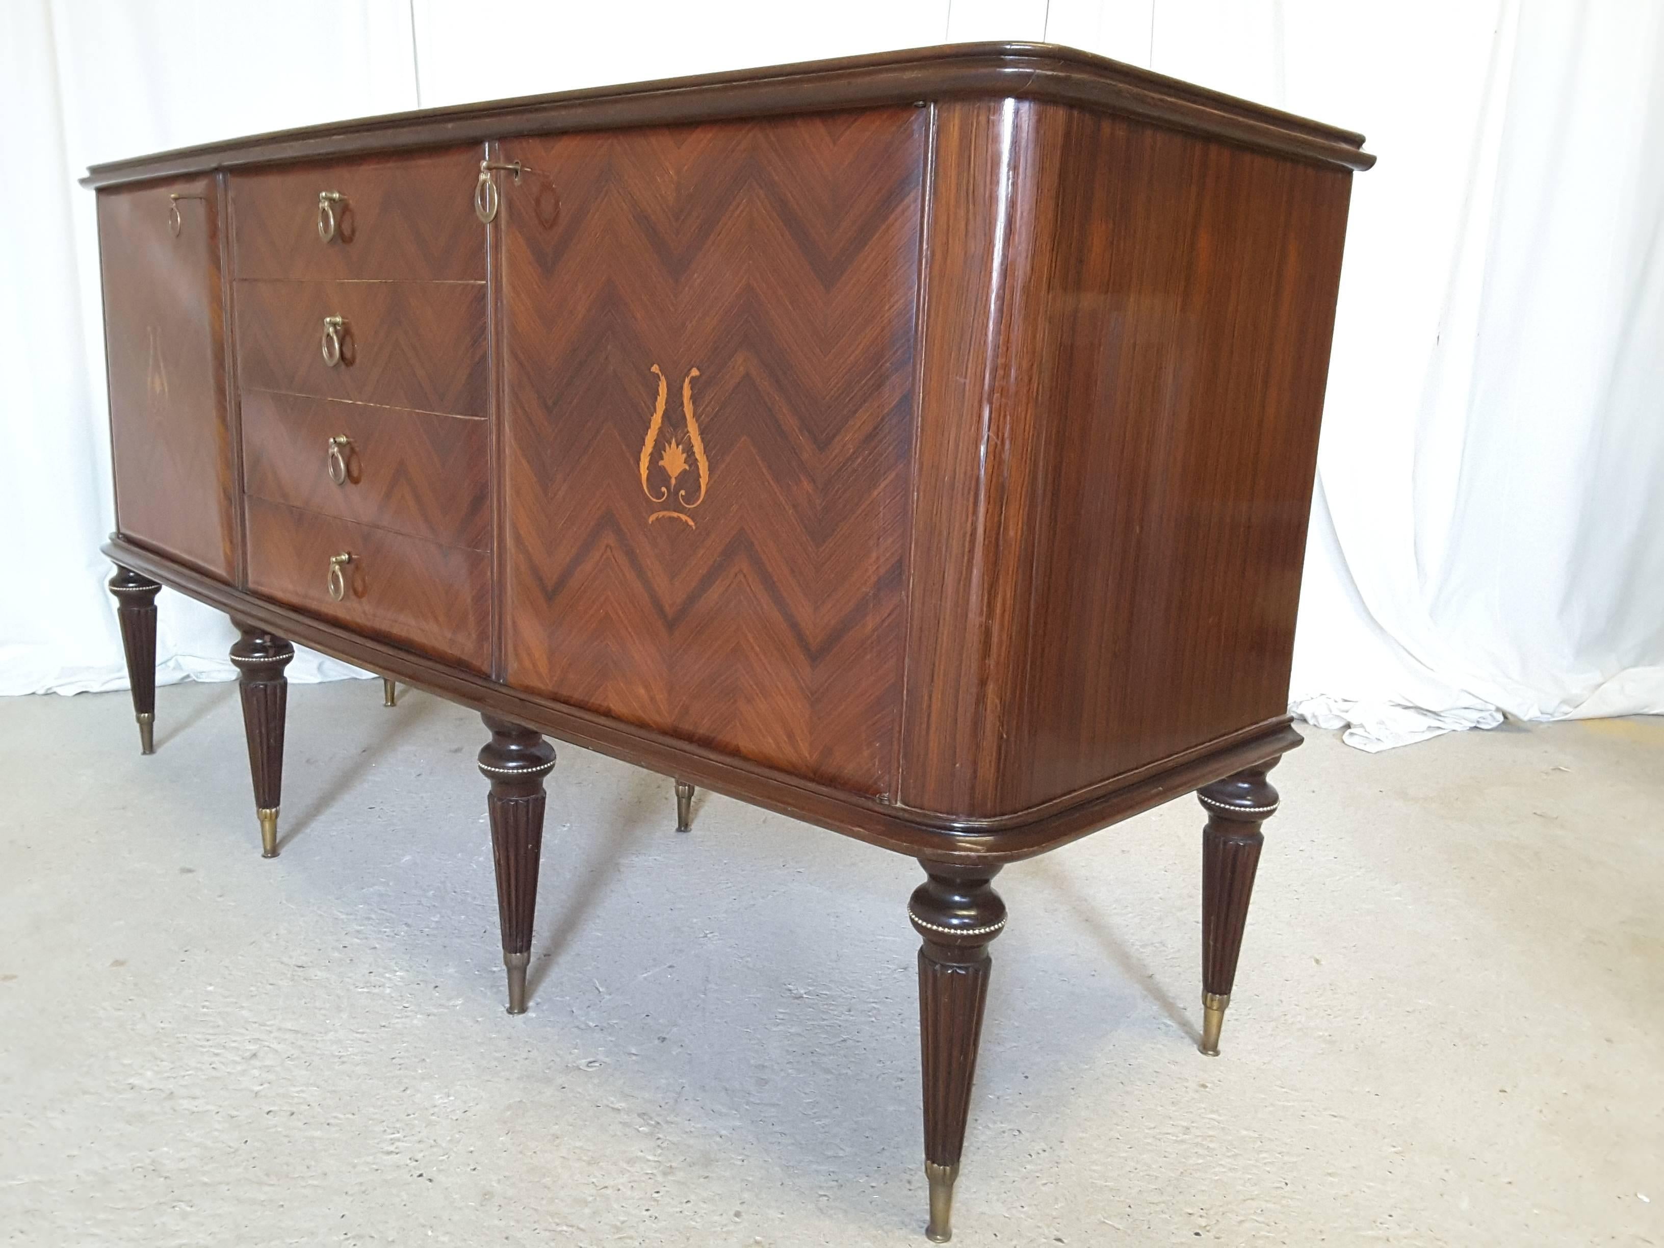
[[(987, 446), (975, 503), (937, 496), (950, 476), (919, 498), (922, 518), (957, 508), (982, 534), (958, 557), (977, 589), (914, 606), (915, 654), (982, 711), (967, 727), (909, 682), (900, 794), (965, 815), (1083, 794), (1285, 714), (1351, 186), (1058, 105), (1017, 105), (995, 140), (1012, 190), (987, 429), (975, 403), (922, 414)], [(929, 398), (952, 391), (937, 334), (960, 333), (935, 283), (937, 266)], [(962, 667), (940, 657), (953, 614), (982, 624)], [(934, 742), (953, 732), (950, 755)]]

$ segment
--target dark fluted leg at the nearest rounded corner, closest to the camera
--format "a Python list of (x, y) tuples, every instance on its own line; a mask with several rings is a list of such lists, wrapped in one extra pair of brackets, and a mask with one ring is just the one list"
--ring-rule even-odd
[(924, 862), (929, 879), (907, 902), (919, 947), (919, 1045), (924, 1058), (925, 1176), (937, 1243), (953, 1236), (953, 1180), (965, 1143), (970, 1085), (988, 998), (988, 942), (1005, 927), (1005, 902), (988, 887), (998, 867)]

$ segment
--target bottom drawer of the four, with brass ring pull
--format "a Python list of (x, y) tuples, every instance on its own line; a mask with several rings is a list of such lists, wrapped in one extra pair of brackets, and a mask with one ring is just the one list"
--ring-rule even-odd
[[(491, 661), (491, 556), (246, 499), (248, 587), (359, 632), (484, 672)], [(343, 597), (329, 596), (329, 561)]]

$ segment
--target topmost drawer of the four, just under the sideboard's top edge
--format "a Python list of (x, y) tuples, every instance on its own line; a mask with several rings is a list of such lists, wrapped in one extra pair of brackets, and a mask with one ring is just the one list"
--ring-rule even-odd
[[(484, 281), (479, 146), (231, 175), (238, 278)], [(321, 211), (319, 195), (328, 200)], [(323, 225), (331, 225), (324, 238)]]

